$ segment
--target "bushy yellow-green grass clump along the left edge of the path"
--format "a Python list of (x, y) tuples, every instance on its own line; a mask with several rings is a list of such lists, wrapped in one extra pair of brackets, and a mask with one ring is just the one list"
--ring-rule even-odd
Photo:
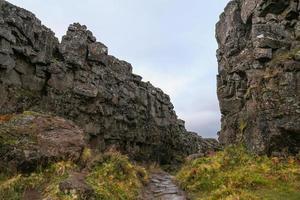
[(143, 183), (147, 182), (146, 170), (133, 165), (127, 156), (118, 152), (106, 153), (101, 160), (102, 164), (92, 167), (87, 176), (96, 199), (136, 199)]

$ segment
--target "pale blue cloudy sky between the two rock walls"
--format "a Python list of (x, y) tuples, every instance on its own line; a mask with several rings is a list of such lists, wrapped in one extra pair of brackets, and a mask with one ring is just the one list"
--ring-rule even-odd
[(85, 24), (109, 54), (169, 94), (189, 131), (217, 137), (215, 24), (229, 0), (8, 0), (61, 39)]

